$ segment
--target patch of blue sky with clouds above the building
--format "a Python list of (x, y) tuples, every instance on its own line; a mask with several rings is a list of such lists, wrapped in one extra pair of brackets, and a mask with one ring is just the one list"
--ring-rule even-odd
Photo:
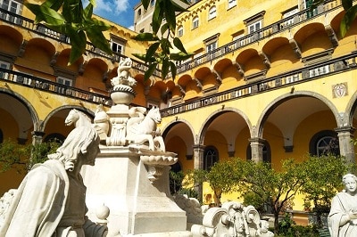
[(123, 27), (133, 29), (134, 6), (140, 0), (96, 0), (94, 13)]

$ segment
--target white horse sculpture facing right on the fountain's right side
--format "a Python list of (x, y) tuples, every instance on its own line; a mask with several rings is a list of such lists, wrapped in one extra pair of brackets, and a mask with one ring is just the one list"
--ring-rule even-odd
[(134, 107), (129, 110), (130, 119), (127, 123), (126, 141), (135, 144), (149, 143), (152, 151), (166, 151), (160, 129), (157, 124), (161, 123), (162, 117), (159, 108), (153, 107), (144, 116), (144, 107)]

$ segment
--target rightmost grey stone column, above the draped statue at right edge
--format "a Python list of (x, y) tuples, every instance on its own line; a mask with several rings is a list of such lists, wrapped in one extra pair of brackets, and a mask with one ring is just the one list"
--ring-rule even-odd
[(340, 155), (344, 156), (347, 162), (354, 164), (355, 152), (354, 152), (354, 145), (352, 139), (353, 139), (353, 133), (355, 131), (355, 128), (337, 127), (335, 131), (337, 132), (338, 135)]

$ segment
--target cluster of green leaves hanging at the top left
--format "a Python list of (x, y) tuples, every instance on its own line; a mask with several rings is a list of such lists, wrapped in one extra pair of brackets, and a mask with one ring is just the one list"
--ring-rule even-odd
[(109, 42), (103, 35), (103, 31), (111, 29), (111, 26), (92, 18), (95, 0), (89, 0), (86, 8), (83, 8), (81, 0), (46, 0), (43, 4), (25, 5), (36, 15), (35, 24), (44, 22), (49, 29), (70, 37), (72, 47), (69, 64), (86, 52), (87, 38), (95, 47), (112, 54)]

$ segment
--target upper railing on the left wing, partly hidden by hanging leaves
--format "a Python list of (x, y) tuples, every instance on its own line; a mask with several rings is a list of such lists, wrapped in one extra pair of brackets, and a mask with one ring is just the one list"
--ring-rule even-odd
[[(56, 41), (62, 42), (63, 44), (70, 45), (70, 38), (66, 35), (63, 35), (62, 33), (59, 33), (53, 29), (49, 29), (43, 24), (35, 24), (34, 20), (30, 20), (28, 18), (22, 17), (21, 15), (8, 12), (2, 8), (0, 8), (0, 20), (23, 29), (28, 29), (32, 32), (37, 33), (37, 35), (52, 38)], [(116, 52), (113, 52), (112, 55), (104, 53), (102, 50), (95, 48), (95, 46), (90, 42), (87, 42), (86, 50), (87, 53), (92, 53), (95, 56), (103, 57), (110, 61), (119, 62), (121, 59), (127, 58), (127, 56)], [(137, 61), (135, 59), (131, 59), (131, 61), (133, 61), (133, 69), (137, 69), (141, 72), (145, 72), (148, 69), (147, 65), (141, 61)], [(154, 71), (154, 76), (161, 77), (161, 70), (156, 69)]]

